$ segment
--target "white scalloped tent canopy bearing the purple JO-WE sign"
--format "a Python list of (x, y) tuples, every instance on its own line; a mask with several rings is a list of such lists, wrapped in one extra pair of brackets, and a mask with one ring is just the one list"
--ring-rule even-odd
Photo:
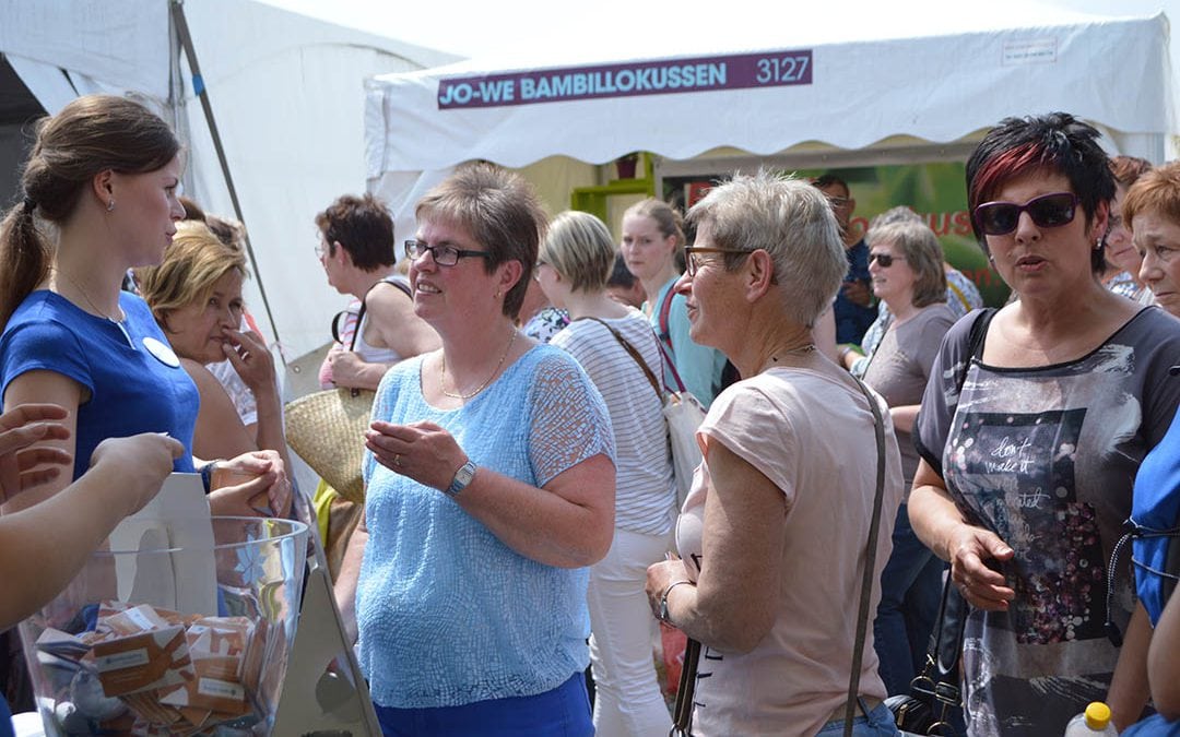
[(831, 28), (779, 25), (779, 45), (738, 48), (716, 40), (738, 37), (704, 24), (707, 39), (686, 45), (691, 53), (663, 58), (472, 60), (376, 77), (367, 83), (369, 189), (405, 232), (421, 192), (471, 159), (602, 164), (642, 150), (669, 173), (721, 149), (799, 167), (889, 163), (890, 152), (892, 162), (962, 159), (999, 119), (1051, 110), (1096, 124), (1113, 150), (1163, 159), (1174, 119), (1162, 14), (1030, 18), (972, 7), (957, 27), (932, 17), (924, 35), (907, 15), (893, 38), (873, 38), (863, 24), (845, 41), (831, 40)]

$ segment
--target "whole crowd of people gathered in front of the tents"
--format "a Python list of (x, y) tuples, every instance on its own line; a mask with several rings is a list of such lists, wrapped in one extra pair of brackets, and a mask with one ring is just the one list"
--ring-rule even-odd
[[(966, 165), (994, 308), (909, 208), (854, 231), (834, 173), (645, 199), (618, 241), (485, 163), (401, 242), (342, 196), (321, 382), (373, 393), (363, 502), (293, 488), (242, 229), (182, 202), (183, 165), (131, 100), (37, 127), (0, 224), (0, 625), (170, 472), (225, 468), (249, 480), (212, 513), (319, 524), (386, 735), (666, 735), (660, 623), (700, 644), (691, 735), (898, 735), (939, 617), (968, 735), (1095, 700), (1176, 729), (1180, 163), (1001, 121)], [(707, 410), (682, 506), (680, 390)]]

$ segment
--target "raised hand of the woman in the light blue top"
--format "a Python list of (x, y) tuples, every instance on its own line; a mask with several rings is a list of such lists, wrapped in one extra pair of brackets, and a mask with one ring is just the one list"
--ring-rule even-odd
[(451, 486), (467, 462), (454, 436), (433, 422), (374, 421), (365, 432), (365, 447), (389, 471), (437, 489)]

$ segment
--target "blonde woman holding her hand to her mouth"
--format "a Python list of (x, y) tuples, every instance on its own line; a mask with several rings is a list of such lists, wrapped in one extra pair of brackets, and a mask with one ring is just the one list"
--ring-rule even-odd
[[(214, 459), (270, 449), (287, 460), (274, 360), (261, 337), (238, 330), (245, 276), (245, 255), (194, 221), (177, 224), (159, 265), (136, 270), (139, 294), (201, 394), (194, 453)], [(253, 432), (205, 368), (224, 360), (254, 395), (257, 423)]]

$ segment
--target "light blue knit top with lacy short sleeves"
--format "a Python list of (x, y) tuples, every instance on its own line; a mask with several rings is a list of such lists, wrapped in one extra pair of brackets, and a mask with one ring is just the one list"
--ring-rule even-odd
[[(614, 459), (602, 397), (557, 348), (532, 348), (453, 410), (426, 403), (421, 364), (419, 356), (386, 374), (374, 419), (434, 422), (480, 468), (536, 487), (594, 455)], [(531, 696), (585, 669), (588, 568), (513, 552), (446, 494), (371, 453), (365, 481), (358, 650), (375, 703), (407, 709)]]

